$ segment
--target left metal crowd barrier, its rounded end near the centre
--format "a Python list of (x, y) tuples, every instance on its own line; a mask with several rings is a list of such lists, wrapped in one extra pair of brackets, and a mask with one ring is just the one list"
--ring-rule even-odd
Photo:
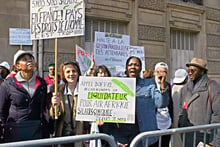
[(82, 142), (82, 141), (87, 141), (87, 140), (96, 140), (97, 142), (98, 139), (107, 141), (111, 147), (117, 147), (117, 145), (115, 144), (114, 138), (112, 136), (109, 136), (103, 133), (4, 143), (4, 144), (0, 144), (0, 147), (19, 147), (19, 146), (39, 147), (39, 146), (47, 146), (47, 145)]

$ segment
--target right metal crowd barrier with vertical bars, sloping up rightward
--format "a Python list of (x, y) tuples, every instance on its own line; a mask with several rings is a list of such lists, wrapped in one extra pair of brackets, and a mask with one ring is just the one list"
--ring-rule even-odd
[[(214, 132), (216, 132), (216, 130), (220, 129), (220, 123), (216, 123), (216, 124), (208, 124), (208, 125), (200, 125), (200, 126), (192, 126), (192, 127), (184, 127), (184, 128), (174, 128), (174, 129), (168, 129), (168, 130), (157, 130), (157, 131), (150, 131), (150, 132), (143, 132), (138, 134), (131, 142), (130, 147), (136, 147), (138, 145), (138, 143), (146, 138), (146, 147), (148, 147), (148, 138), (152, 137), (152, 136), (159, 136), (159, 147), (161, 146), (161, 136), (163, 135), (171, 135), (171, 147), (173, 147), (173, 136), (175, 134), (183, 134), (183, 144), (182, 146), (185, 146), (185, 133), (189, 133), (189, 132), (194, 132), (194, 139), (195, 139), (195, 132), (196, 131), (203, 131), (203, 130), (210, 130), (213, 129), (215, 130)], [(214, 136), (216, 135), (216, 133), (214, 133)], [(206, 140), (206, 133), (204, 132), (204, 140)], [(204, 141), (204, 143), (206, 143)], [(215, 144), (215, 140), (214, 140), (214, 144)], [(194, 147), (195, 146), (195, 141), (194, 141)]]

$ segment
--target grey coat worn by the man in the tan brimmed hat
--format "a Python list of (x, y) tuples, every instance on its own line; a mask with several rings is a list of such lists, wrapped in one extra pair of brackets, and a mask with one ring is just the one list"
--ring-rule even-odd
[[(207, 74), (194, 85), (189, 81), (181, 90), (179, 127), (220, 123), (220, 85), (216, 81), (211, 82), (212, 104), (209, 97), (209, 82)], [(207, 134), (209, 134), (208, 132)], [(216, 145), (220, 146), (220, 132), (217, 134)], [(203, 141), (203, 135), (198, 134), (196, 143)], [(211, 142), (211, 136), (207, 136), (207, 142)], [(186, 136), (186, 146), (191, 146), (193, 136)]]

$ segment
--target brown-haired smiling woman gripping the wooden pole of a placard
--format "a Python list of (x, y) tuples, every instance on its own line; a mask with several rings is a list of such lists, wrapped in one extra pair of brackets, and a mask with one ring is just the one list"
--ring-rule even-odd
[[(77, 62), (67, 61), (60, 65), (60, 75), (64, 84), (59, 85), (58, 93), (53, 93), (50, 116), (55, 119), (55, 105), (58, 105), (58, 119), (55, 136), (83, 134), (83, 122), (76, 121), (78, 81), (81, 71)], [(73, 146), (73, 144), (65, 145)], [(75, 145), (76, 146), (76, 145)]]

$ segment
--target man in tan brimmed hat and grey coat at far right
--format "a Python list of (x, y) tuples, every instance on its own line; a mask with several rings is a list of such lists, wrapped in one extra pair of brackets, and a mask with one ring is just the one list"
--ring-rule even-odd
[[(220, 123), (220, 85), (208, 78), (206, 61), (200, 58), (193, 58), (187, 63), (189, 82), (182, 88), (180, 95), (179, 127), (205, 125)], [(187, 133), (185, 146), (193, 146), (193, 133)], [(216, 138), (210, 131), (196, 133), (196, 146), (199, 142), (220, 146), (220, 130)], [(213, 144), (215, 143), (215, 144)]]

